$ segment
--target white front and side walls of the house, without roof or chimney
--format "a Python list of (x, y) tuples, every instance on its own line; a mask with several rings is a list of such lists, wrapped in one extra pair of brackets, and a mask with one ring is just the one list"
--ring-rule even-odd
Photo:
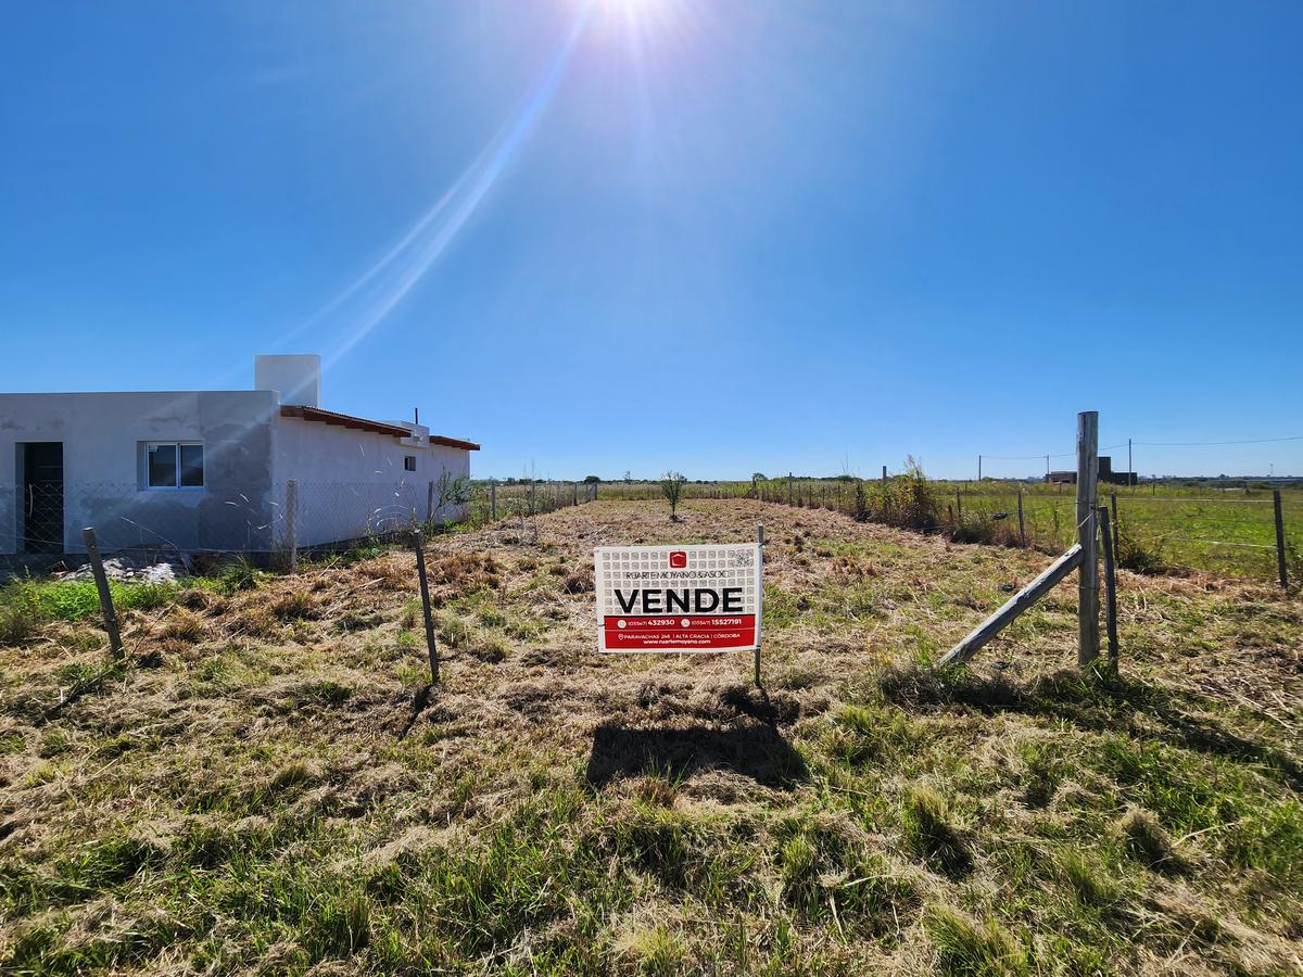
[[(396, 423), (396, 422), (391, 422)], [(20, 444), (64, 446), (64, 548), (93, 525), (106, 551), (139, 546), (268, 551), (284, 542), (285, 482), (298, 481), (301, 546), (426, 518), (429, 485), (469, 475), (470, 455), (410, 438), (281, 417), (272, 391), (0, 393), (0, 554), (22, 548)], [(205, 487), (142, 487), (139, 446), (198, 440)], [(405, 455), (416, 457), (407, 472)], [(455, 521), (465, 509), (438, 507)]]

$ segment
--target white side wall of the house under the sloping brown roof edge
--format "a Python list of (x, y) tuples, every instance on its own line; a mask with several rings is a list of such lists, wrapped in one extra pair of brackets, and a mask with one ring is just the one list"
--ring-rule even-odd
[[(399, 422), (391, 422), (397, 425)], [(408, 525), (412, 512), (426, 518), (429, 485), (470, 474), (469, 452), (427, 444), (429, 429), (403, 423), (410, 438), (395, 438), (349, 427), (276, 417), (272, 475), (275, 535), (285, 537), (285, 483), (297, 482), (294, 538), (300, 546), (357, 539)], [(416, 472), (404, 456), (416, 457)], [(465, 507), (438, 505), (435, 520), (465, 517)]]

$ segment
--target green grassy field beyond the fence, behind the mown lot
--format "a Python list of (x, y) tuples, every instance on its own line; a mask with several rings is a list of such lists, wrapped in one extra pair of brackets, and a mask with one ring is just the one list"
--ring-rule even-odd
[[(1062, 552), (1076, 541), (1076, 488), (1071, 485), (982, 482), (929, 482), (936, 494), (937, 530), (971, 542), (1015, 545), (1018, 495), (1023, 492), (1027, 545), (1044, 552)], [(1239, 485), (1239, 483), (1235, 483)], [(881, 485), (865, 481), (869, 504)], [(486, 486), (480, 486), (476, 513), (487, 515)], [(580, 500), (586, 486), (580, 486)], [(744, 499), (751, 482), (689, 482), (684, 498)], [(787, 479), (758, 485), (762, 498), (787, 500)], [(499, 486), (499, 515), (528, 511), (529, 488)], [(1276, 580), (1276, 524), (1268, 488), (1225, 488), (1205, 485), (1156, 483), (1136, 487), (1100, 486), (1101, 504), (1117, 498), (1122, 548), (1138, 569), (1162, 573), (1208, 572), (1255, 580)], [(1287, 564), (1294, 580), (1303, 577), (1303, 488), (1282, 490)], [(653, 482), (610, 482), (598, 488), (602, 499), (653, 500), (661, 488)], [(956, 498), (958, 495), (958, 498)], [(855, 483), (835, 478), (797, 478), (794, 498), (804, 507), (853, 512)], [(551, 511), (572, 504), (569, 482), (546, 483), (536, 490), (536, 508)]]

